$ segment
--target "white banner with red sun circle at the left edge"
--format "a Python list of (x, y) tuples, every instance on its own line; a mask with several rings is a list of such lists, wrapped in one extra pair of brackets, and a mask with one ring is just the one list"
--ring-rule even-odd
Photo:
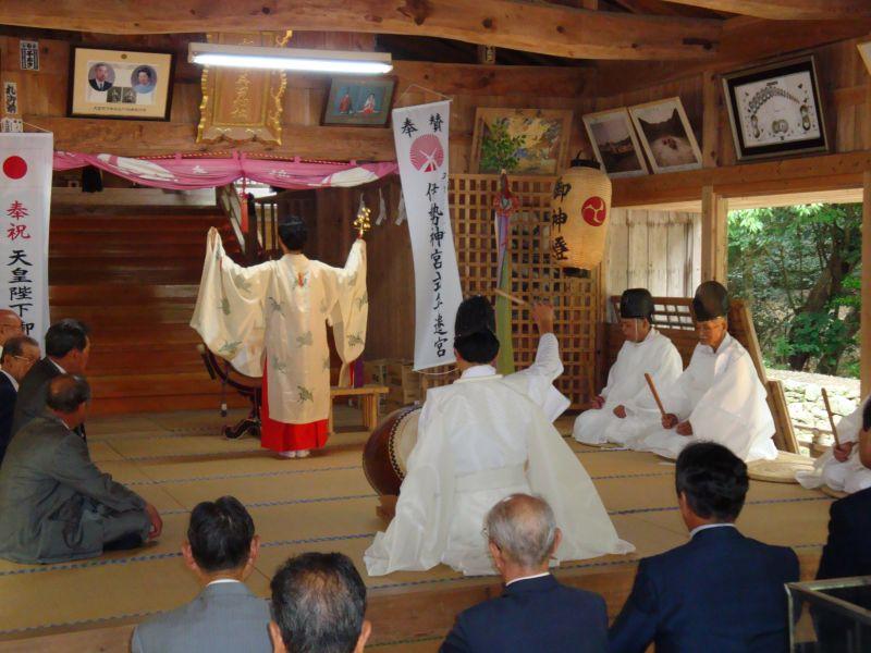
[(42, 345), (48, 315), (52, 134), (0, 134), (0, 308)]

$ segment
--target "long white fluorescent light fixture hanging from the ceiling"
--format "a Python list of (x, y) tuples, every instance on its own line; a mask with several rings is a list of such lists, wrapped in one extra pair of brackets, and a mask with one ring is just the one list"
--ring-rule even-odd
[(221, 44), (189, 44), (187, 61), (200, 65), (351, 75), (381, 75), (393, 70), (390, 54), (382, 52), (261, 48)]

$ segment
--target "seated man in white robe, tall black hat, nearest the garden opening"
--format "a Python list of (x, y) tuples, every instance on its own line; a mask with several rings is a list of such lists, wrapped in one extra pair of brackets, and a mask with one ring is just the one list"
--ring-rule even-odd
[(686, 445), (707, 440), (745, 463), (777, 457), (765, 389), (747, 349), (728, 333), (728, 305), (726, 288), (715, 281), (696, 291), (699, 344), (677, 381), (658, 389), (666, 415), (646, 427), (633, 448), (677, 458)]

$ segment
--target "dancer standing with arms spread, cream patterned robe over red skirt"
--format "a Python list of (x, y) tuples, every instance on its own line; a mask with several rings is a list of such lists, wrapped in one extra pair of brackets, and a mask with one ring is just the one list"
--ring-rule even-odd
[(305, 457), (329, 434), (327, 323), (344, 364), (340, 383), (366, 342), (366, 244), (358, 239), (345, 267), (331, 268), (303, 255), (302, 219), (280, 224), (279, 238), (281, 259), (243, 268), (212, 227), (191, 326), (236, 370), (262, 375), (261, 445), (286, 458)]

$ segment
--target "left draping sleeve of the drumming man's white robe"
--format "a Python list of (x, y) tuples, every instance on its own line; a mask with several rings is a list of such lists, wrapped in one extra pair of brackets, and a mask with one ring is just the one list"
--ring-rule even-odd
[[(396, 515), (364, 554), (369, 576), (430, 569), (441, 562), (454, 513), (455, 465), (443, 416), (429, 402), (418, 422)], [(573, 456), (574, 457), (574, 456)]]

